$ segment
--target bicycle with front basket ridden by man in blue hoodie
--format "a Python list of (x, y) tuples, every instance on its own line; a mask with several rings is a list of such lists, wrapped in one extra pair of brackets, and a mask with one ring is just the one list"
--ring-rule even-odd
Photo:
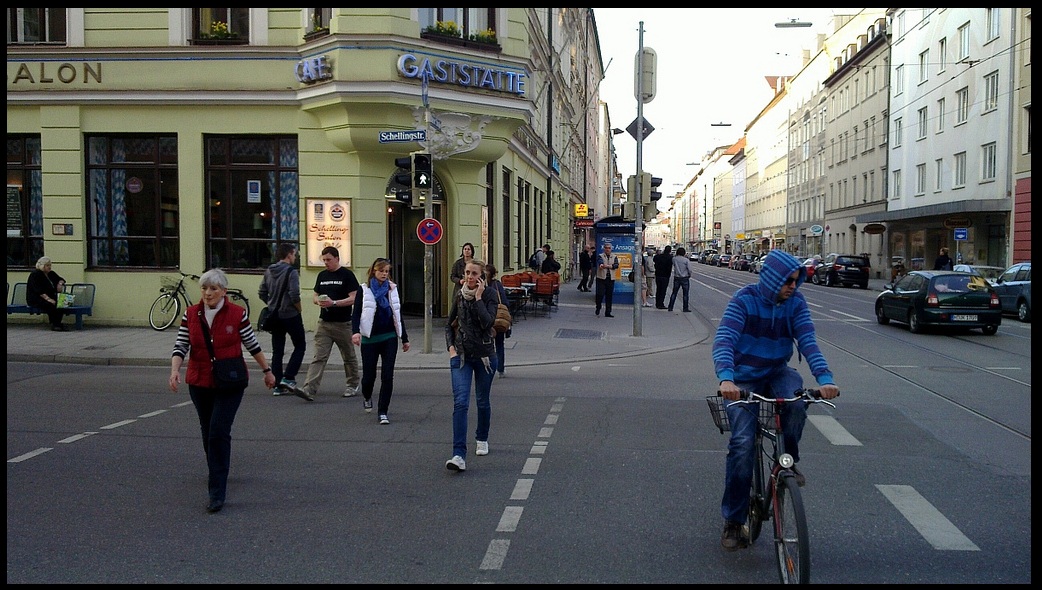
[[(752, 470), (752, 486), (749, 491), (749, 515), (743, 532), (751, 545), (760, 537), (765, 520), (774, 520), (774, 550), (777, 558), (778, 575), (783, 584), (809, 584), (811, 580), (811, 546), (807, 530), (807, 513), (803, 496), (792, 471), (792, 456), (785, 450), (782, 436), (782, 408), (786, 403), (803, 401), (807, 403), (836, 404), (821, 399), (821, 392), (801, 389), (795, 397), (765, 397), (751, 391), (742, 391), (742, 399), (724, 404), (724, 398), (717, 395), (705, 397), (713, 415), (713, 422), (720, 433), (730, 429), (726, 407), (759, 404), (756, 432), (753, 446), (756, 452), (755, 468)], [(763, 403), (761, 403), (763, 402)], [(756, 411), (747, 408), (748, 411)]]

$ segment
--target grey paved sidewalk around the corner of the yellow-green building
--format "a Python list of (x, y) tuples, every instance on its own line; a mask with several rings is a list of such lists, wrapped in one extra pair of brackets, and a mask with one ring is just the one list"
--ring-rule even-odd
[[(561, 286), (560, 305), (547, 314), (529, 311), (527, 319), (515, 318), (506, 339), (506, 366), (571, 363), (596, 359), (619, 359), (688, 346), (712, 338), (716, 326), (705, 325), (697, 313), (642, 308), (641, 336), (634, 336), (631, 304), (617, 304), (614, 318), (594, 315), (594, 294), (576, 290), (576, 281)], [(545, 308), (544, 308), (545, 310)], [(150, 327), (99, 325), (86, 318), (81, 330), (51, 331), (46, 316), (39, 322), (7, 324), (7, 362), (78, 363), (90, 365), (170, 366), (170, 352), (177, 336), (175, 327), (156, 331)], [(314, 353), (314, 326), (308, 327), (304, 371)], [(398, 352), (397, 369), (447, 369), (445, 320), (433, 318), (430, 352), (424, 350), (423, 318), (406, 317), (412, 347)], [(271, 358), (271, 335), (257, 333)], [(287, 343), (288, 352), (291, 344)], [(252, 361), (249, 361), (252, 363)], [(331, 368), (342, 367), (333, 347)]]

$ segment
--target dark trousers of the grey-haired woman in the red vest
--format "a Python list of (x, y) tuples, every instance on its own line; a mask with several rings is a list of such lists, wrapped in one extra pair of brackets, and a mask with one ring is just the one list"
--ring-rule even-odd
[(189, 395), (199, 415), (202, 450), (209, 468), (209, 499), (224, 501), (231, 466), (231, 423), (235, 420), (243, 392), (190, 385)]

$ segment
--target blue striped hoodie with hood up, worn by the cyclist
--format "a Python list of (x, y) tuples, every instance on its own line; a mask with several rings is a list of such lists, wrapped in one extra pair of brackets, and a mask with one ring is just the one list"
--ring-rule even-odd
[[(796, 291), (778, 302), (782, 286), (799, 271)], [(788, 365), (793, 342), (807, 359), (818, 385), (833, 384), (811, 322), (811, 311), (799, 287), (807, 269), (792, 254), (771, 250), (760, 270), (760, 281), (740, 289), (723, 313), (713, 340), (713, 365), (720, 382), (758, 382)]]

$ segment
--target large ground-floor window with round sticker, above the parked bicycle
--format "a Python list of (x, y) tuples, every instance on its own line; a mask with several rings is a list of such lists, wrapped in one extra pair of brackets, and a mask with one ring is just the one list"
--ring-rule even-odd
[(180, 263), (176, 134), (85, 136), (88, 265)]

